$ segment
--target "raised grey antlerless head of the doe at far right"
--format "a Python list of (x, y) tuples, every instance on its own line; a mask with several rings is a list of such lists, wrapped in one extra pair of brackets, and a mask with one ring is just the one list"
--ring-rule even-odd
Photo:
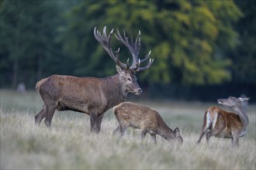
[(223, 104), (223, 106), (234, 108), (241, 107), (242, 102), (247, 102), (250, 97), (228, 97), (227, 99), (218, 99), (218, 104)]

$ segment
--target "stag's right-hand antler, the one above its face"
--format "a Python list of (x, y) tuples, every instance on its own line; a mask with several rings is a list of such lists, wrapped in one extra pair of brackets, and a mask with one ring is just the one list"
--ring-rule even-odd
[[(132, 66), (130, 66), (129, 70), (132, 70), (132, 71), (147, 70), (151, 66), (151, 64), (154, 62), (154, 59), (149, 59), (150, 52), (142, 60), (140, 60), (138, 57), (140, 53), (140, 31), (137, 35), (135, 42), (133, 42), (133, 37), (131, 38), (131, 42), (129, 42), (129, 39), (126, 36), (126, 32), (123, 32), (123, 37), (124, 37), (123, 39), (118, 29), (117, 29), (117, 35), (115, 34), (115, 36), (116, 36), (116, 39), (122, 42), (130, 50), (130, 53), (132, 53), (133, 63), (132, 63)], [(149, 59), (147, 66), (140, 67), (140, 63), (144, 63), (145, 61), (147, 61), (147, 59)]]

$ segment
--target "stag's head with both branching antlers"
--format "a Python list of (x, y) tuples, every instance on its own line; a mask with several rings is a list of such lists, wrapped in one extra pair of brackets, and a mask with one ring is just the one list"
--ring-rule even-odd
[[(109, 35), (106, 34), (106, 26), (104, 27), (102, 33), (99, 32), (99, 30), (94, 29), (94, 36), (95, 39), (97, 39), (104, 49), (106, 49), (106, 52), (109, 53), (109, 56), (114, 60), (116, 63), (116, 71), (119, 73), (119, 79), (122, 83), (122, 89), (125, 93), (135, 93), (139, 95), (142, 93), (142, 90), (137, 83), (137, 77), (135, 76), (136, 72), (147, 70), (151, 64), (153, 63), (154, 59), (150, 59), (150, 52), (147, 54), (147, 56), (144, 57), (144, 59), (139, 59), (139, 53), (140, 53), (140, 31), (137, 35), (137, 39), (135, 42), (133, 42), (133, 38), (129, 42), (128, 37), (126, 36), (126, 32), (123, 32), (123, 36), (121, 36), (119, 30), (117, 29), (117, 32), (115, 34), (116, 39), (119, 40), (119, 42), (122, 42), (123, 45), (125, 45), (130, 53), (133, 56), (133, 63), (131, 66), (129, 65), (129, 58), (127, 59), (126, 63), (122, 63), (119, 60), (119, 49), (116, 50), (115, 53), (112, 52), (111, 48), (111, 38), (112, 33), (114, 29), (109, 32)], [(149, 59), (149, 62), (146, 66), (140, 66), (140, 63), (144, 63)]]

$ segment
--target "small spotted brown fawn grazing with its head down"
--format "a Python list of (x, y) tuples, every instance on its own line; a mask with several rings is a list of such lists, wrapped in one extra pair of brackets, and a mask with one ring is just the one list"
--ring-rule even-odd
[(178, 128), (172, 131), (156, 110), (141, 104), (123, 102), (113, 107), (113, 112), (119, 122), (113, 134), (119, 131), (123, 136), (126, 129), (132, 127), (140, 129), (140, 140), (144, 140), (146, 134), (149, 133), (154, 143), (157, 143), (156, 134), (158, 134), (167, 141), (177, 140), (182, 144), (183, 139)]

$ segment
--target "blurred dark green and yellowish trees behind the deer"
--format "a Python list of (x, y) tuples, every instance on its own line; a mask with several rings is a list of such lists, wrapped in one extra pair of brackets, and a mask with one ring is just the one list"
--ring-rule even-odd
[[(93, 36), (141, 32), (140, 58), (154, 63), (137, 73), (147, 100), (213, 101), (245, 95), (255, 103), (255, 1), (1, 0), (0, 87), (34, 90), (52, 74), (110, 76), (115, 63)], [(131, 55), (120, 47), (120, 59)], [(134, 95), (131, 95), (134, 97)]]

